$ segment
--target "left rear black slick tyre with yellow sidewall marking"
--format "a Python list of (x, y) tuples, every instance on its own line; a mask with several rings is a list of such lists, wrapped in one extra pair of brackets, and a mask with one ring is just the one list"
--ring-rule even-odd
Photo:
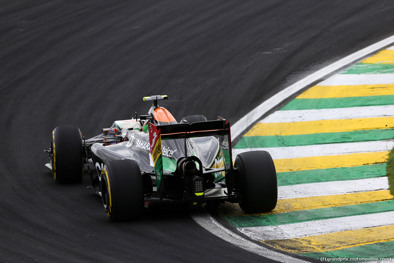
[(101, 197), (110, 220), (128, 221), (141, 217), (144, 189), (138, 163), (134, 160), (105, 163), (101, 170)]

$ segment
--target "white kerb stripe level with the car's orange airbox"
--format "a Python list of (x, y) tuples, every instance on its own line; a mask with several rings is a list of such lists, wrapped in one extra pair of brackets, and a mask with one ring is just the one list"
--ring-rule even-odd
[[(394, 103), (394, 102), (393, 102)], [(308, 122), (316, 120), (340, 120), (394, 116), (394, 105), (351, 107), (341, 109), (309, 109), (275, 111), (260, 120), (261, 123)]]

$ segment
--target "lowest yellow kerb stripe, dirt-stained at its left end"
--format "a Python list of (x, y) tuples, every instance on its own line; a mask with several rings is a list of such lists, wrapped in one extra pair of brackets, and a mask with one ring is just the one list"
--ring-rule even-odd
[(292, 253), (327, 252), (394, 240), (394, 225), (341, 231), (297, 239), (265, 240), (264, 244)]

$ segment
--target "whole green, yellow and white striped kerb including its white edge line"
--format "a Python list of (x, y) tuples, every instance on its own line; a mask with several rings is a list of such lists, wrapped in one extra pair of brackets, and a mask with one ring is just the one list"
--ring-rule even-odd
[(392, 43), (394, 36), (316, 71), (232, 126), (234, 139), (248, 128), (245, 123), (256, 122), (282, 100), (325, 79), (257, 122), (233, 146), (234, 160), (250, 150), (271, 154), (277, 207), (261, 214), (244, 214), (230, 203), (219, 207), (221, 217), (250, 239), (290, 254), (259, 246), (209, 214), (193, 219), (232, 244), (281, 262), (290, 255), (296, 256), (292, 262), (305, 262), (299, 256), (394, 257), (394, 201), (384, 163), (394, 146)]

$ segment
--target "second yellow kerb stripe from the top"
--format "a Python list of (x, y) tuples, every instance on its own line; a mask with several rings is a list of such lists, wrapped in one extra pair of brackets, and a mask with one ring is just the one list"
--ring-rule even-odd
[(394, 84), (313, 86), (297, 99), (346, 98), (393, 95)]

